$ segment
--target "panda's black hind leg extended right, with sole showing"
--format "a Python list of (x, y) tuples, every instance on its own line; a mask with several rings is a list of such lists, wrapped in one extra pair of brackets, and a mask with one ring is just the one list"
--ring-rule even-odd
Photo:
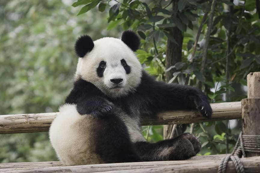
[(201, 148), (200, 141), (189, 133), (156, 143), (136, 142), (136, 150), (144, 161), (183, 160), (195, 156)]

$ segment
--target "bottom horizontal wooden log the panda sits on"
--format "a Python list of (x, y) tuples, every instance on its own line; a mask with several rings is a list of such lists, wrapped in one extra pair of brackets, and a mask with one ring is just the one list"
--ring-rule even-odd
[[(246, 173), (259, 173), (260, 157), (242, 158), (241, 162)], [(3, 168), (1, 173), (23, 172), (23, 173), (51, 173), (51, 172), (103, 172), (103, 173), (208, 173), (217, 172), (220, 160), (210, 161), (162, 161), (162, 162), (133, 162), (133, 163), (112, 163), (97, 165), (78, 165), (78, 166), (54, 166), (44, 168)], [(232, 161), (228, 162), (228, 173), (236, 173)]]

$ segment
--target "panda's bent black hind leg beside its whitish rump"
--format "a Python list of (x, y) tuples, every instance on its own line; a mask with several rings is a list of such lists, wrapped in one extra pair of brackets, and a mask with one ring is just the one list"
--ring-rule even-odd
[(124, 122), (115, 114), (100, 117), (93, 126), (96, 135), (96, 153), (104, 163), (140, 162)]

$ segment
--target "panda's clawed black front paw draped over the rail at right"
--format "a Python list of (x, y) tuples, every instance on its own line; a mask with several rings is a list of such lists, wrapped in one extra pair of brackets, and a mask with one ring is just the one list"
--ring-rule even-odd
[(212, 109), (204, 93), (201, 92), (194, 102), (201, 115), (211, 118)]

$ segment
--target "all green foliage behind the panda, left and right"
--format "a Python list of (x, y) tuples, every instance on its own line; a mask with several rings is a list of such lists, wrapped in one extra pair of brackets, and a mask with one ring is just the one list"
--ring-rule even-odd
[[(158, 80), (165, 80), (165, 73), (171, 72), (167, 82), (191, 86), (201, 82), (212, 103), (240, 101), (246, 97), (246, 75), (260, 71), (256, 1), (217, 1), (203, 71), (208, 17), (196, 53), (191, 54), (212, 1), (0, 1), (0, 115), (58, 111), (72, 87), (76, 38), (81, 34), (93, 40), (120, 38), (126, 29), (142, 38), (137, 56)], [(177, 10), (172, 10), (174, 2)], [(181, 31), (182, 43), (170, 34), (174, 27)], [(169, 40), (182, 46), (182, 57), (166, 69)], [(203, 146), (201, 154), (231, 152), (240, 127), (237, 120), (194, 124), (193, 132)], [(162, 140), (163, 126), (145, 126), (143, 134), (148, 141)], [(0, 135), (0, 162), (50, 160), (57, 158), (47, 132)]]

